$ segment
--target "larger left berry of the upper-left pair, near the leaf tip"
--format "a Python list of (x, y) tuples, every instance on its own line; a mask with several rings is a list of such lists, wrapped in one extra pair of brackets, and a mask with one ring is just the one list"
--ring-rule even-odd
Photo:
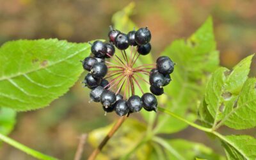
[(99, 40), (96, 40), (95, 42), (93, 42), (92, 47), (91, 47), (91, 51), (92, 53), (96, 56), (96, 57), (104, 57), (107, 53), (107, 47), (104, 44), (104, 42), (101, 42)]

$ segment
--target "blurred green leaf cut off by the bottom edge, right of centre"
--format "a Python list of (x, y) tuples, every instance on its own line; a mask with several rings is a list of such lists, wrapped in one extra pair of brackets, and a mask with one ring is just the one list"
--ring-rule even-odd
[[(162, 139), (161, 139), (162, 140)], [(195, 159), (199, 157), (201, 159), (224, 159), (224, 157), (215, 154), (211, 148), (206, 147), (201, 143), (195, 143), (192, 141), (176, 139), (176, 140), (162, 140), (157, 141), (164, 147), (164, 151), (168, 156), (168, 159)]]

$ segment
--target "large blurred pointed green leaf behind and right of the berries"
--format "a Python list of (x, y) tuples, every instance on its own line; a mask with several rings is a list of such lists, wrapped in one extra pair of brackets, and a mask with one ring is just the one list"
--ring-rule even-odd
[[(196, 112), (198, 102), (203, 98), (207, 75), (219, 64), (212, 19), (207, 19), (188, 40), (175, 40), (161, 55), (169, 56), (177, 63), (171, 75), (173, 81), (164, 88), (168, 95), (166, 108), (177, 115), (188, 117), (191, 121), (195, 120), (195, 113), (191, 115), (188, 109)], [(164, 115), (159, 116), (156, 130), (170, 133), (180, 131), (187, 126), (175, 118)]]

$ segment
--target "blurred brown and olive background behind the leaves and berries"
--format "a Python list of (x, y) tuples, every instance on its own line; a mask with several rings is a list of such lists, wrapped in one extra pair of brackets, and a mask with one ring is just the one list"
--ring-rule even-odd
[[(20, 38), (59, 38), (70, 42), (105, 39), (113, 13), (130, 2), (0, 0), (0, 44)], [(136, 8), (131, 18), (138, 26), (150, 28), (155, 57), (172, 40), (191, 35), (209, 15), (214, 20), (214, 33), (223, 66), (230, 68), (256, 51), (256, 1), (134, 2)], [(253, 67), (256, 67), (255, 60)], [(81, 134), (108, 125), (118, 118), (115, 113), (104, 116), (99, 104), (89, 104), (88, 100), (88, 90), (82, 88), (81, 81), (78, 81), (70, 92), (52, 102), (48, 108), (19, 113), (10, 136), (46, 154), (73, 159)], [(138, 114), (132, 116), (140, 118)], [(204, 132), (190, 127), (173, 136), (206, 145), (212, 143)], [(218, 150), (218, 145), (211, 144), (211, 147)], [(87, 157), (90, 152), (92, 147), (86, 144), (83, 156)], [(3, 144), (0, 159), (33, 158)]]

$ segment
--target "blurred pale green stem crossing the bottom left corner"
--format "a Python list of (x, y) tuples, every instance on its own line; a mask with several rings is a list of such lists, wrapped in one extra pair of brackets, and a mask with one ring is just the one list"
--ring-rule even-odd
[(36, 150), (33, 150), (29, 147), (26, 147), (25, 145), (22, 145), (21, 143), (12, 140), (12, 138), (8, 138), (7, 136), (4, 136), (0, 133), (0, 140), (4, 141), (5, 143), (8, 143), (9, 145), (12, 145), (13, 147), (22, 150), (26, 154), (29, 154), (30, 156), (33, 156), (37, 159), (43, 159), (43, 160), (57, 160), (54, 157), (47, 156), (45, 154), (42, 154), (41, 152), (38, 152)]

